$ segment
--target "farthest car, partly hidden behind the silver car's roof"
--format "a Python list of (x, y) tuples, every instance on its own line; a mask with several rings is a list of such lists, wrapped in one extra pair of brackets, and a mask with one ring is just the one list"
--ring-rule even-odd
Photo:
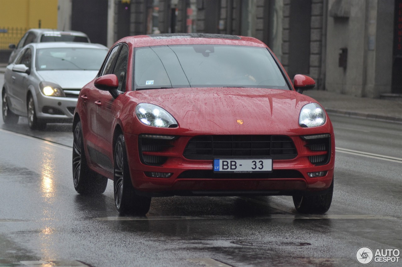
[(18, 45), (10, 44), (8, 47), (13, 49), (8, 59), (8, 64), (14, 61), (15, 57), (25, 45), (30, 43), (43, 42), (80, 42), (90, 43), (88, 36), (79, 31), (57, 31), (53, 29), (30, 29), (18, 42)]

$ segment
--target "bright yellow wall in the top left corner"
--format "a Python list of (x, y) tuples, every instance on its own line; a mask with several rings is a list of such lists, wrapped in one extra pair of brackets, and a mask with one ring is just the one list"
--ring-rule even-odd
[(0, 29), (57, 29), (57, 0), (0, 0)]

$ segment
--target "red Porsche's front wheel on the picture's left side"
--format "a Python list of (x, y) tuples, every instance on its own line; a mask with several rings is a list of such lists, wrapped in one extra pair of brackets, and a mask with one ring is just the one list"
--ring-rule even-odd
[(129, 173), (127, 152), (122, 134), (117, 137), (114, 151), (113, 192), (120, 215), (145, 215), (150, 210), (151, 198), (135, 193)]

